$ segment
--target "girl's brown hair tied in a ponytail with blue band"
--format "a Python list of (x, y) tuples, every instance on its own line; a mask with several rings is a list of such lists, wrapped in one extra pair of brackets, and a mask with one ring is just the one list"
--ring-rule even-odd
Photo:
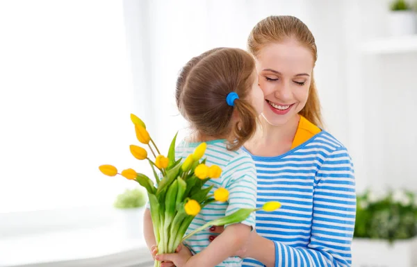
[[(175, 93), (177, 107), (199, 134), (231, 138), (229, 149), (236, 150), (256, 130), (258, 114), (248, 100), (255, 75), (254, 58), (242, 49), (206, 51), (181, 70)], [(231, 92), (239, 96), (234, 106), (226, 102)], [(238, 120), (232, 125), (234, 110)]]

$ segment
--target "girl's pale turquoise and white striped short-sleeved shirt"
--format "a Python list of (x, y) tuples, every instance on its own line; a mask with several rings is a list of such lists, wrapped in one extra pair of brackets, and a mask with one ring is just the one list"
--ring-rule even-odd
[[(181, 142), (176, 148), (175, 157), (185, 159), (188, 155), (193, 153), (195, 147), (200, 143)], [(224, 187), (229, 191), (229, 200), (225, 203), (211, 203), (206, 205), (193, 222), (188, 227), (186, 234), (192, 232), (208, 221), (216, 218), (222, 218), (241, 208), (256, 207), (256, 169), (254, 161), (243, 149), (236, 151), (227, 150), (227, 141), (223, 139), (207, 141), (207, 148), (204, 157), (206, 158), (206, 165), (211, 166), (216, 164), (222, 169), (222, 175), (218, 179), (211, 179), (204, 184), (203, 188), (213, 185), (209, 194), (213, 194), (215, 189)], [(255, 227), (255, 214), (252, 213), (245, 221), (245, 225), (250, 225), (253, 229)], [(184, 243), (192, 252), (198, 253), (206, 248), (210, 241), (208, 237), (211, 235), (208, 229), (202, 230), (191, 236)], [(229, 257), (218, 266), (241, 266), (242, 259), (239, 257)]]

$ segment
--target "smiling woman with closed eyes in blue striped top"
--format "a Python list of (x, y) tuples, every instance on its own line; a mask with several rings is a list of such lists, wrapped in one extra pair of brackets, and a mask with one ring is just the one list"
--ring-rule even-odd
[[(248, 48), (265, 96), (262, 127), (245, 145), (256, 163), (257, 205), (278, 200), (282, 207), (257, 212), (256, 232), (238, 256), (247, 258), (243, 266), (350, 266), (353, 167), (343, 144), (319, 128), (314, 37), (300, 19), (271, 16), (253, 28)], [(222, 230), (211, 227), (210, 240)]]

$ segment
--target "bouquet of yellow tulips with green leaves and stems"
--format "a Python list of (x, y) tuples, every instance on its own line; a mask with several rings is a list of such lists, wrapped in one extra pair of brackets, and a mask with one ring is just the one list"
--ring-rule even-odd
[[(208, 167), (205, 164), (206, 160), (201, 160), (206, 150), (206, 143), (197, 146), (194, 153), (188, 155), (185, 160), (175, 160), (177, 135), (172, 139), (167, 157), (165, 157), (161, 155), (158, 147), (149, 136), (145, 123), (134, 114), (131, 114), (131, 121), (135, 126), (138, 141), (148, 146), (154, 160), (149, 159), (147, 150), (140, 146), (131, 145), (131, 154), (138, 160), (149, 161), (156, 180), (156, 187), (146, 175), (137, 173), (133, 169), (126, 169), (121, 173), (118, 173), (115, 166), (112, 165), (101, 165), (99, 169), (105, 175), (120, 174), (145, 187), (149, 198), (158, 253), (175, 252), (181, 242), (213, 225), (239, 223), (256, 210), (263, 209), (272, 212), (281, 206), (280, 203), (270, 202), (259, 209), (239, 209), (229, 216), (210, 221), (184, 236), (191, 221), (204, 206), (214, 201), (227, 201), (229, 196), (227, 189), (219, 188), (213, 194), (209, 194), (213, 185), (204, 186), (208, 180), (219, 178), (222, 170), (216, 165)], [(160, 264), (159, 261), (155, 261), (155, 266), (160, 266)]]

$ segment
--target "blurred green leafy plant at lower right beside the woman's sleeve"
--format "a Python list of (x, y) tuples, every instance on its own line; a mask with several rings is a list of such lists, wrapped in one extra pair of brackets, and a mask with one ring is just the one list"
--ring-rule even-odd
[(417, 236), (417, 196), (406, 190), (357, 196), (354, 236), (370, 239), (410, 239)]

